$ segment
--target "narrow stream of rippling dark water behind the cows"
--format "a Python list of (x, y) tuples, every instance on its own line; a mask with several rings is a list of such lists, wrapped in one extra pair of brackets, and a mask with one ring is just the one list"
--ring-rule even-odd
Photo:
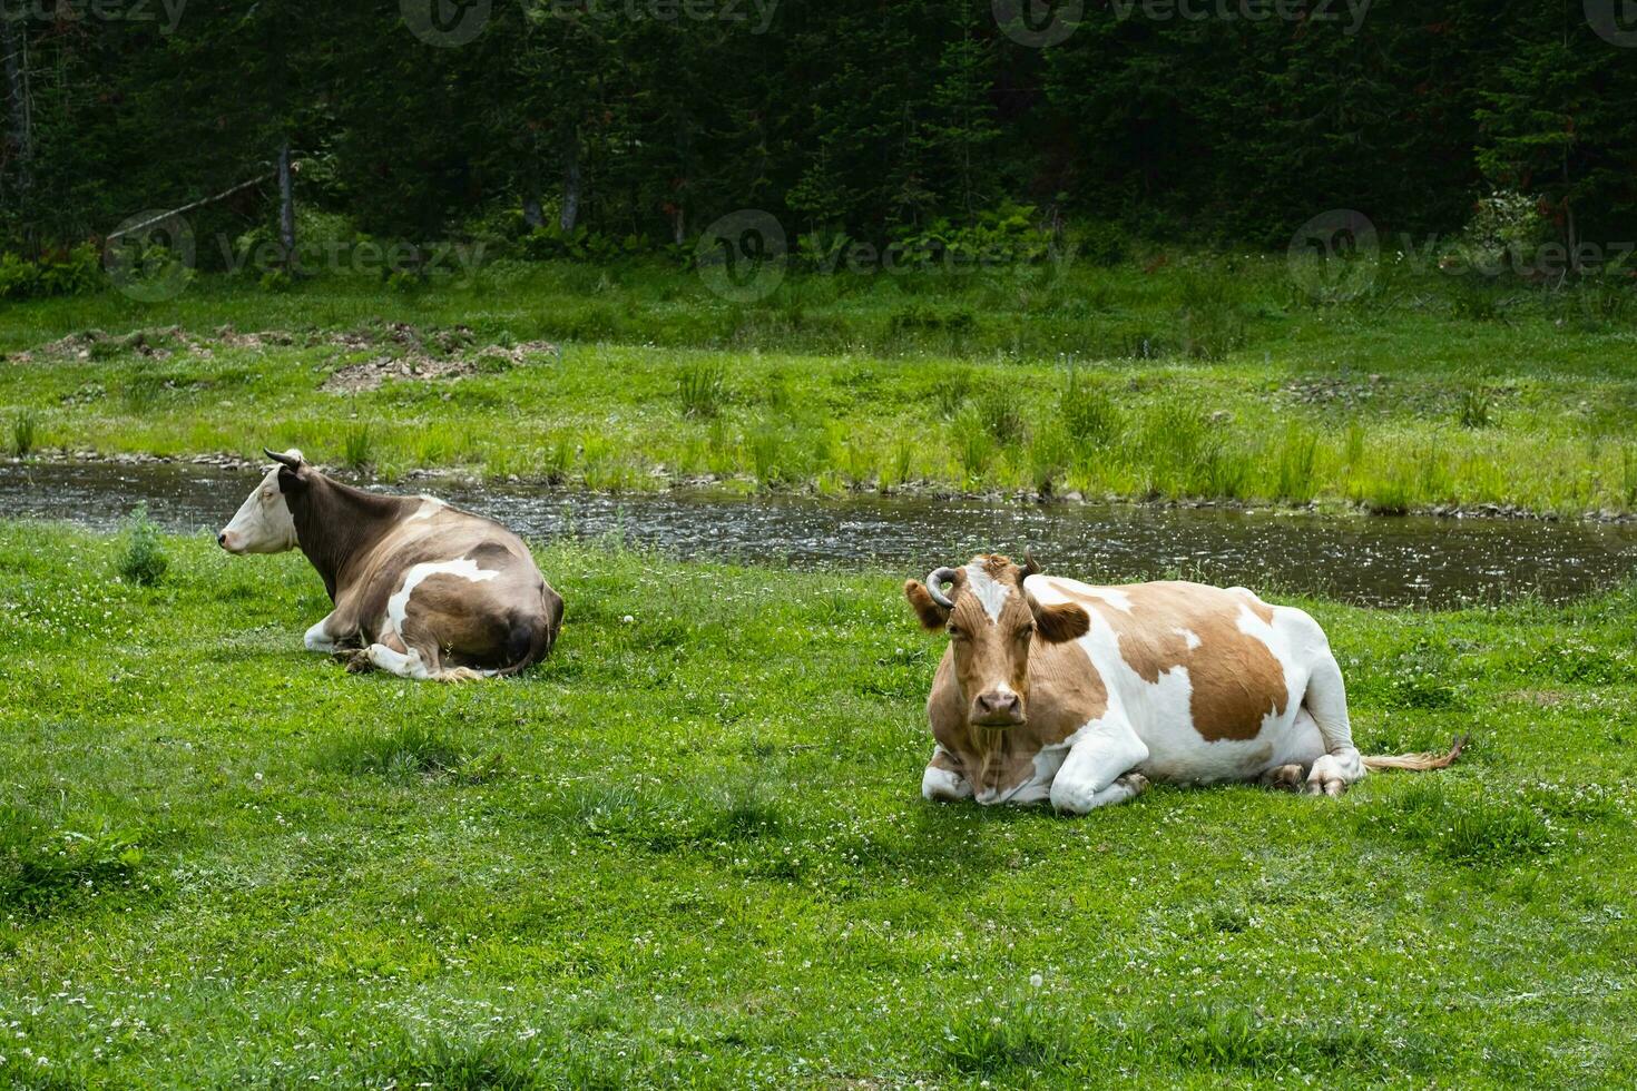
[[(0, 465), (0, 515), (113, 530), (139, 501), (167, 530), (218, 530), (259, 474), (180, 463)], [(678, 558), (923, 576), (977, 551), (1030, 548), (1087, 581), (1185, 574), (1365, 605), (1563, 600), (1637, 572), (1637, 527), (1508, 519), (935, 501), (922, 497), (604, 496), (437, 481), (427, 491), (530, 538), (601, 538)], [(252, 561), (254, 563), (254, 561)]]

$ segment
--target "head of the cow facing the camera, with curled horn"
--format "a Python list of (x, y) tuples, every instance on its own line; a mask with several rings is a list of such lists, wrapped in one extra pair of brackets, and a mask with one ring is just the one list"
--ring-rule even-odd
[(966, 568), (940, 568), (925, 584), (904, 581), (922, 625), (949, 633), (954, 680), (974, 726), (1028, 723), (1030, 646), (1076, 640), (1092, 625), (1072, 602), (1041, 605), (1023, 586), (1036, 571), (1033, 558), (1023, 566), (990, 554)]

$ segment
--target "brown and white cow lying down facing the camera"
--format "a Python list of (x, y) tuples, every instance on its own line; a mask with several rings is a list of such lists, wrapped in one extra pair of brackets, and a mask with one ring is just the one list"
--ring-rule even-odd
[(1341, 795), (1365, 769), (1460, 752), (1360, 757), (1324, 630), (1244, 587), (1094, 587), (990, 554), (904, 592), (949, 633), (927, 702), (928, 800), (1085, 813), (1149, 780)]

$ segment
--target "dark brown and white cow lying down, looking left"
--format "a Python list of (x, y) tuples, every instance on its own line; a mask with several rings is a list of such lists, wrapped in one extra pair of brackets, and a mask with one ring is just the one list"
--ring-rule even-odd
[(357, 666), (455, 682), (514, 674), (545, 656), (563, 599), (499, 523), (429, 496), (380, 496), (332, 481), (290, 450), (216, 541), (228, 553), (300, 548), (336, 608), (308, 651), (362, 648)]

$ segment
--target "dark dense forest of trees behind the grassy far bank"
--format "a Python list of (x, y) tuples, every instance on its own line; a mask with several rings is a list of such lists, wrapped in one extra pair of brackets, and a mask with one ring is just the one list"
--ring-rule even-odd
[(1128, 239), (1282, 249), (1326, 209), (1452, 236), (1501, 193), (1576, 270), (1637, 226), (1637, 31), (1616, 0), (0, 10), (13, 265), (200, 201), (201, 270), (270, 242), (291, 273), (319, 237), (686, 258), (737, 209), (818, 252), (943, 252), (1021, 213), (1116, 260)]

